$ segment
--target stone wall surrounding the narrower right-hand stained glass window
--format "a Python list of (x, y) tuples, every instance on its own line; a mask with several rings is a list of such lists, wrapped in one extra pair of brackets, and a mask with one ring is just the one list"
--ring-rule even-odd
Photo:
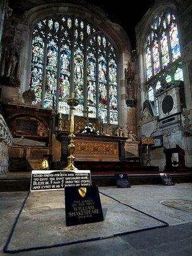
[[(178, 108), (180, 110), (172, 116), (176, 117), (174, 122), (162, 125), (160, 117), (153, 118), (148, 113), (142, 113), (143, 102), (146, 100), (146, 75), (145, 75), (145, 52), (144, 43), (148, 29), (156, 15), (164, 10), (169, 10), (176, 16), (177, 27), (179, 31), (179, 44), (181, 49), (181, 61), (183, 63), (184, 75), (184, 98), (185, 107), (181, 107), (181, 102), (178, 100)], [(152, 8), (148, 9), (141, 21), (136, 26), (136, 51), (137, 59), (136, 66), (138, 67), (138, 76), (140, 78), (140, 86), (138, 87), (138, 106), (137, 106), (137, 121), (140, 137), (142, 136), (162, 136), (162, 147), (153, 149), (151, 152), (151, 162), (157, 165), (160, 169), (164, 169), (165, 155), (163, 146), (167, 148), (176, 147), (178, 144), (185, 150), (186, 166), (192, 166), (192, 133), (191, 133), (191, 101), (192, 101), (192, 4), (191, 1), (160, 1), (156, 0)], [(167, 92), (165, 92), (166, 95)], [(172, 94), (172, 92), (171, 92)], [(182, 105), (182, 104), (181, 104)], [(144, 118), (143, 118), (144, 116)], [(167, 119), (169, 116), (167, 116)], [(166, 117), (162, 117), (166, 119)], [(184, 121), (185, 120), (185, 121)], [(185, 123), (184, 123), (185, 122)]]

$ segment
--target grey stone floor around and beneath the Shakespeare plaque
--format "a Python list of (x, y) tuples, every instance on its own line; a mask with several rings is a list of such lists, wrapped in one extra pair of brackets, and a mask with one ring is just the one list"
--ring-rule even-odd
[[(100, 194), (104, 222), (67, 228), (64, 221), (64, 193), (32, 192), (21, 212), (9, 249), (53, 245), (98, 234), (107, 238), (20, 252), (19, 255), (192, 255), (192, 186), (137, 185), (131, 188), (101, 187), (100, 192), (124, 204), (168, 222), (169, 227), (139, 233), (114, 233), (160, 226), (162, 223)], [(0, 193), (0, 255), (27, 192)]]

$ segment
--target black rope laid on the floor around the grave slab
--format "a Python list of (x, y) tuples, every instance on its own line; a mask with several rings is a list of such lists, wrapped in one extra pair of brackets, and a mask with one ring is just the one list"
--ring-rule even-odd
[(109, 195), (106, 195), (105, 193), (102, 193), (102, 192), (99, 192), (101, 193), (102, 195), (104, 195), (105, 197), (109, 197), (111, 198), (112, 200), (115, 200), (116, 202), (118, 202), (119, 204), (123, 204), (123, 205), (126, 205), (127, 207), (133, 209), (133, 210), (136, 210), (138, 212), (140, 212), (141, 214), (145, 214), (146, 216), (148, 217), (152, 217), (153, 219), (157, 220), (157, 221), (160, 221), (162, 223), (164, 223), (164, 225), (160, 225), (160, 226), (152, 226), (150, 228), (143, 228), (143, 229), (136, 229), (136, 230), (133, 230), (133, 231), (125, 231), (125, 232), (121, 232), (121, 233), (116, 233), (116, 234), (113, 234), (113, 235), (109, 235), (109, 236), (99, 236), (97, 238), (88, 238), (88, 239), (85, 239), (85, 240), (77, 240), (77, 241), (71, 241), (71, 242), (67, 242), (67, 243), (57, 243), (55, 245), (44, 245), (44, 246), (40, 246), (40, 247), (29, 247), (29, 248), (23, 248), (23, 249), (18, 249), (18, 250), (9, 250), (8, 249), (8, 245), (11, 241), (11, 238), (13, 236), (13, 233), (15, 231), (15, 228), (16, 228), (16, 224), (18, 222), (18, 219), (21, 215), (21, 212), (25, 206), (25, 203), (27, 201), (27, 198), (30, 194), (30, 192), (28, 192), (27, 194), (27, 197), (25, 198), (25, 200), (23, 201), (23, 204), (21, 205), (21, 209), (20, 211), (18, 212), (18, 215), (16, 216), (16, 219), (15, 219), (15, 222), (13, 224), (13, 227), (11, 228), (11, 232), (8, 236), (8, 240), (6, 241), (6, 245), (4, 246), (3, 248), (3, 252), (4, 253), (20, 253), (20, 252), (29, 252), (29, 251), (32, 251), (32, 250), (42, 250), (42, 249), (49, 249), (49, 248), (56, 248), (56, 247), (64, 247), (66, 245), (75, 245), (75, 244), (78, 244), (78, 243), (86, 243), (86, 242), (90, 242), (90, 241), (98, 241), (98, 240), (104, 240), (104, 239), (108, 239), (108, 238), (113, 238), (115, 236), (122, 236), (122, 235), (127, 235), (127, 234), (131, 234), (131, 233), (138, 233), (138, 232), (141, 232), (141, 231), (147, 231), (147, 230), (151, 230), (151, 229), (155, 229), (155, 228), (164, 228), (166, 226), (169, 226), (169, 224), (165, 221), (162, 221), (154, 216), (151, 216), (150, 214), (147, 214), (145, 212), (143, 212), (142, 210), (138, 210), (128, 204), (124, 204), (123, 202), (120, 202), (119, 200), (117, 200), (116, 198), (113, 198)]

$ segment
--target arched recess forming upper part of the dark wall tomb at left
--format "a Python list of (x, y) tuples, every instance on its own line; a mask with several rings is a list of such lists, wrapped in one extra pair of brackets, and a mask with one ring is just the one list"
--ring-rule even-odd
[[(16, 138), (18, 138), (18, 145), (33, 146), (33, 140), (44, 142), (44, 146), (49, 145), (51, 141), (51, 110), (23, 105), (15, 106), (14, 104), (2, 104), (2, 106), (9, 129), (15, 138), (15, 145)], [(21, 137), (24, 137), (24, 140), (19, 142)], [(37, 146), (35, 142), (34, 146)]]

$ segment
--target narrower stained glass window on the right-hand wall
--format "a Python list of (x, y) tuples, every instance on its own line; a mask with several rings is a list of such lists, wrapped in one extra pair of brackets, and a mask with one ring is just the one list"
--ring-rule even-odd
[[(179, 35), (172, 13), (162, 13), (150, 26), (145, 44), (145, 64), (149, 101), (152, 101), (151, 95), (155, 95), (162, 82), (183, 80)], [(157, 101), (153, 101), (158, 114)]]

